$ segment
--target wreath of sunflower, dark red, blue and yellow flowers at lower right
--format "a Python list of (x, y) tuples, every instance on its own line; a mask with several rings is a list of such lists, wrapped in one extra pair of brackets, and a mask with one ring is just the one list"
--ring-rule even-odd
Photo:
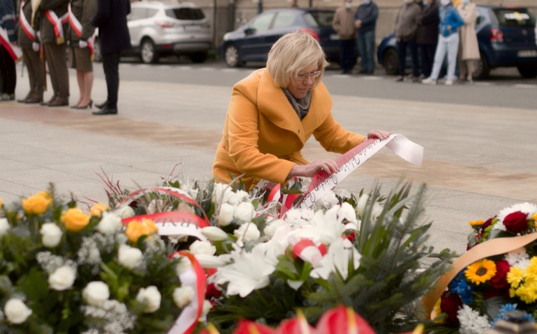
[[(495, 238), (536, 232), (537, 206), (521, 203), (487, 221), (470, 221), (468, 249)], [(520, 310), (524, 319), (537, 317), (537, 242), (470, 264), (448, 285), (435, 306), (437, 333), (478, 334)]]

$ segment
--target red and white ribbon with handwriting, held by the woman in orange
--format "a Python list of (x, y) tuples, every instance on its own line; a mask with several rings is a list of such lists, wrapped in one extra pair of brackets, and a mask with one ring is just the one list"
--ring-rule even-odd
[(402, 134), (392, 134), (384, 140), (371, 138), (335, 159), (338, 166), (341, 166), (339, 172), (328, 175), (324, 170), (320, 170), (319, 173), (315, 174), (310, 189), (305, 193), (298, 207), (300, 209), (311, 207), (327, 191), (333, 189), (384, 146), (411, 164), (421, 166), (423, 147), (409, 141)]

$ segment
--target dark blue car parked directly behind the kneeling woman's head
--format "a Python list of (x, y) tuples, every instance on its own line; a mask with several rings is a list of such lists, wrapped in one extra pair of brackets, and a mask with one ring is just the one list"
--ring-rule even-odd
[(244, 26), (226, 33), (220, 54), (229, 67), (247, 61), (266, 61), (272, 45), (286, 33), (308, 31), (324, 49), (328, 60), (337, 62), (340, 40), (332, 28), (334, 10), (282, 8), (267, 10)]

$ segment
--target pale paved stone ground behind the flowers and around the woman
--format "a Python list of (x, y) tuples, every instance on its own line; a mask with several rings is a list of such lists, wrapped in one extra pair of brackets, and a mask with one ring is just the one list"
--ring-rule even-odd
[[(74, 103), (78, 89), (75, 77), (70, 79)], [(26, 78), (20, 79), (17, 96), (27, 90)], [(0, 102), (0, 197), (10, 202), (54, 182), (66, 196), (106, 201), (99, 176), (104, 173), (129, 189), (160, 184), (172, 170), (185, 179), (206, 180), (230, 92), (230, 87), (121, 81), (119, 115), (102, 117), (87, 109)], [(93, 98), (105, 97), (105, 83), (96, 79)], [(462, 253), (468, 221), (487, 219), (516, 202), (537, 203), (535, 110), (338, 95), (333, 101), (336, 120), (351, 131), (387, 129), (423, 145), (420, 168), (383, 149), (340, 186), (369, 191), (379, 182), (387, 193), (403, 175), (428, 184), (425, 216), (434, 221), (430, 242), (437, 248)], [(335, 157), (315, 141), (303, 154), (310, 160)]]

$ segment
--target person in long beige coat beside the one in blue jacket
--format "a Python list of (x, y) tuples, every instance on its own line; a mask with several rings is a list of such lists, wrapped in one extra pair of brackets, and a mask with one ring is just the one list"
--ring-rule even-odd
[(476, 34), (476, 4), (462, 0), (457, 9), (464, 20), (464, 25), (460, 27), (460, 79), (473, 82), (474, 61), (480, 58)]

